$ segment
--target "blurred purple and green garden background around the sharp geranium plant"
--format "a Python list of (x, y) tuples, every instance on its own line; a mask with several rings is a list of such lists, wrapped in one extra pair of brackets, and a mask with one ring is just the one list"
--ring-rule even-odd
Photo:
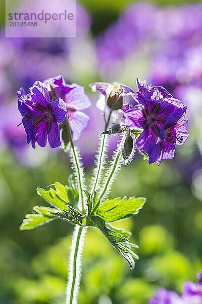
[(92, 100), (89, 126), (77, 142), (87, 180), (104, 125), (89, 83), (118, 81), (135, 89), (138, 77), (187, 104), (190, 137), (175, 158), (157, 167), (137, 155), (110, 195), (147, 198), (134, 219), (117, 223), (133, 232), (140, 260), (129, 271), (89, 229), (79, 304), (146, 304), (159, 287), (180, 292), (202, 269), (202, 3), (80, 0), (75, 39), (5, 39), (4, 9), (1, 26), (0, 303), (64, 303), (73, 227), (57, 220), (20, 232), (19, 225), (34, 205), (44, 204), (36, 187), (66, 183), (71, 165), (60, 149), (31, 149), (23, 127), (16, 127), (18, 88), (58, 74), (83, 85)]

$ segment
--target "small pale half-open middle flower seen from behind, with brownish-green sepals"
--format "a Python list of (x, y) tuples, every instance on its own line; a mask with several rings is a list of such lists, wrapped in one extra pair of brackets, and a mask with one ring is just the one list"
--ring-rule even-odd
[[(96, 82), (90, 84), (89, 87), (93, 92), (99, 91), (100, 93), (102, 93), (102, 95), (100, 95), (100, 98), (97, 101), (97, 108), (103, 112), (105, 111), (107, 104), (108, 107), (114, 107), (114, 109), (117, 109), (115, 103), (118, 103), (118, 101), (120, 101), (120, 98), (123, 98), (123, 102), (121, 103), (120, 108), (122, 110), (126, 110), (126, 108), (128, 107), (128, 101), (125, 102), (126, 96), (132, 95), (132, 93), (134, 93), (131, 88), (119, 84), (117, 82), (114, 82), (112, 84)], [(134, 100), (133, 103), (135, 103)]]

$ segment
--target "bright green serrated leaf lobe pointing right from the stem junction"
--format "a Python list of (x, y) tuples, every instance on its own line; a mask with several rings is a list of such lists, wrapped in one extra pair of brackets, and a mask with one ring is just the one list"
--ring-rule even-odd
[(124, 197), (123, 199), (107, 199), (97, 208), (95, 215), (103, 218), (106, 222), (113, 222), (137, 214), (145, 201), (145, 198), (135, 197), (128, 200), (127, 197)]

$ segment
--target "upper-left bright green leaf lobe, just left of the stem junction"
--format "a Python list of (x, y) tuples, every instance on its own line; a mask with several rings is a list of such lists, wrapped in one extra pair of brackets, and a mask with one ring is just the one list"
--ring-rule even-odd
[(55, 189), (50, 187), (49, 190), (37, 188), (37, 194), (40, 195), (46, 202), (60, 210), (69, 210), (67, 205), (75, 205), (77, 203), (74, 189), (67, 185), (62, 185), (60, 182), (55, 182)]

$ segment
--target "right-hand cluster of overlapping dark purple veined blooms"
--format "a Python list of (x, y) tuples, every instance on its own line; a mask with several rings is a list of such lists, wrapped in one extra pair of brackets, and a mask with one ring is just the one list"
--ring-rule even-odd
[(139, 92), (132, 94), (137, 106), (124, 112), (125, 124), (130, 129), (142, 128), (137, 147), (149, 156), (149, 164), (172, 159), (175, 147), (188, 138), (184, 120), (186, 106), (165, 88), (148, 85), (137, 79)]

